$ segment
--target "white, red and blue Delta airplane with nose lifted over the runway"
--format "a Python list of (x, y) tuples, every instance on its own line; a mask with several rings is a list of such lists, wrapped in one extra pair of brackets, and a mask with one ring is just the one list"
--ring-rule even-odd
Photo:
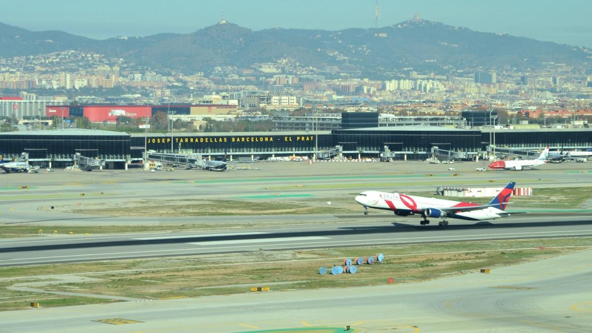
[(356, 201), (364, 207), (365, 215), (368, 214), (368, 208), (392, 210), (397, 216), (418, 214), (423, 217), (423, 221), (420, 222), (422, 225), (430, 223), (428, 217), (434, 217), (442, 219), (438, 225), (447, 226), (446, 219), (448, 217), (481, 221), (510, 216), (510, 213), (506, 212), (506, 206), (514, 190), (514, 185), (516, 182), (509, 182), (488, 204), (407, 196), (406, 194), (381, 191), (364, 191), (356, 196)]

